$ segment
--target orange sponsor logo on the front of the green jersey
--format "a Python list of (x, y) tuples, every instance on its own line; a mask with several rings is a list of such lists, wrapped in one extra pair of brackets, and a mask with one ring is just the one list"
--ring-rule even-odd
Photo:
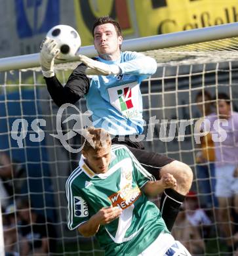
[(131, 188), (130, 184), (124, 186), (123, 189), (109, 196), (113, 207), (119, 206), (121, 209), (126, 209), (132, 205), (140, 197), (141, 192), (138, 186)]

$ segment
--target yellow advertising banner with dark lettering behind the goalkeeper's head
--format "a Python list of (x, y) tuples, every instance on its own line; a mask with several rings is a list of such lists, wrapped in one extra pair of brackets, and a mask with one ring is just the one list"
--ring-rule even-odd
[(91, 45), (99, 16), (119, 21), (123, 36), (145, 37), (238, 21), (238, 0), (75, 0), (83, 45)]

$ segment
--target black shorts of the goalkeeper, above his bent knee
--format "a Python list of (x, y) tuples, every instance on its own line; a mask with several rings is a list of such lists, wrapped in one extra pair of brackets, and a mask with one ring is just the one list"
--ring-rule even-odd
[(129, 136), (118, 137), (116, 136), (111, 140), (112, 144), (124, 144), (129, 148), (136, 159), (141, 165), (151, 173), (155, 179), (159, 179), (159, 171), (162, 167), (174, 161), (172, 158), (168, 158), (165, 155), (161, 155), (155, 152), (145, 150), (142, 142), (133, 142), (129, 139)]

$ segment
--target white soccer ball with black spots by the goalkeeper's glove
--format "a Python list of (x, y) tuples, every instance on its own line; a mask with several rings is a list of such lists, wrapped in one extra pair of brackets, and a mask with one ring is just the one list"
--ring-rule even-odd
[(67, 25), (57, 25), (49, 30), (47, 37), (54, 39), (60, 53), (56, 57), (58, 60), (68, 60), (75, 56), (81, 47), (81, 38), (79, 33)]

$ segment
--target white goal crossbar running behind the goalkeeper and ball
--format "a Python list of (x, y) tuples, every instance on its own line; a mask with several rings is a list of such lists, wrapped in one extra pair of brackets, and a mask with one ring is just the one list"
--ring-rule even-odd
[[(210, 26), (207, 28), (197, 28), (194, 30), (186, 30), (182, 32), (152, 35), (149, 37), (140, 37), (136, 39), (127, 39), (123, 41), (122, 50), (149, 51), (231, 37), (238, 37), (238, 22), (222, 24), (218, 26)], [(85, 54), (89, 57), (96, 56), (96, 51), (93, 45), (81, 47), (79, 52), (80, 54)], [(71, 60), (68, 60), (67, 62), (73, 62), (77, 60), (79, 59), (75, 57)], [(56, 63), (62, 63), (62, 61), (57, 60)], [(38, 66), (39, 53), (0, 58), (0, 72), (35, 68)]]

